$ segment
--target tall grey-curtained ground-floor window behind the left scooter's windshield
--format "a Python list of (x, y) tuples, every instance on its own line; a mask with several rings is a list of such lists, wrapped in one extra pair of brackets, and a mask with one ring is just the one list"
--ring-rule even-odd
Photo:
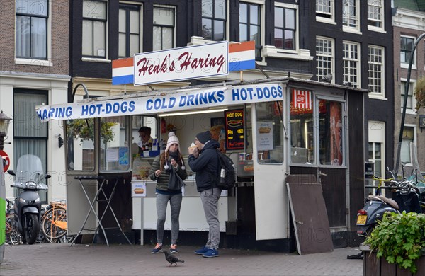
[[(47, 173), (47, 126), (38, 119), (35, 106), (48, 104), (47, 91), (13, 91), (13, 151), (15, 168), (19, 157), (33, 154), (40, 157), (43, 172)], [(45, 180), (42, 180), (45, 183)], [(47, 184), (47, 183), (45, 183)], [(16, 191), (17, 192), (17, 191)], [(16, 194), (17, 195), (17, 194)], [(40, 190), (40, 199), (47, 203), (47, 191)]]

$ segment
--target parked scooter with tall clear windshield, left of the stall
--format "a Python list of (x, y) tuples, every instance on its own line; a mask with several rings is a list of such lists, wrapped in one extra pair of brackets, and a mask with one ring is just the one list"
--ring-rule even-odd
[(23, 238), (23, 243), (35, 243), (40, 233), (41, 200), (39, 190), (47, 190), (43, 179), (48, 179), (49, 174), (42, 173), (42, 163), (38, 156), (26, 154), (18, 159), (16, 173), (8, 170), (15, 176), (11, 187), (16, 187), (22, 192), (16, 197), (14, 209), (14, 226)]

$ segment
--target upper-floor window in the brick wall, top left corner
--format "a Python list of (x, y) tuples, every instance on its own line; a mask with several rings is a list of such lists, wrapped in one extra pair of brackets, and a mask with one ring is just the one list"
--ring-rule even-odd
[(16, 0), (16, 57), (47, 59), (47, 0)]

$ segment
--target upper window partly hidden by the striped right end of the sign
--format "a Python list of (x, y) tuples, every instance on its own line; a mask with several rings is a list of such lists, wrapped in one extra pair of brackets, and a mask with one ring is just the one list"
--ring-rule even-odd
[(255, 40), (255, 57), (261, 60), (261, 6), (239, 3), (239, 42)]

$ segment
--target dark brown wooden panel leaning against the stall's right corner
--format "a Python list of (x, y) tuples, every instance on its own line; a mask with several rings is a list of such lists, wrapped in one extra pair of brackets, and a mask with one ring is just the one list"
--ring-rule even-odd
[(322, 185), (287, 183), (289, 202), (300, 254), (334, 250)]

